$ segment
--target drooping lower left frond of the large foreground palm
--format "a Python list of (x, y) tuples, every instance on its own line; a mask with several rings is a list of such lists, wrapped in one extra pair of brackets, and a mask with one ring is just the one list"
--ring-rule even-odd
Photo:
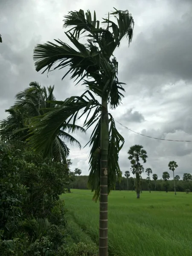
[[(79, 118), (77, 117), (79, 111), (84, 108), (84, 114), (93, 107), (96, 109), (100, 108), (99, 102), (95, 99), (89, 99), (84, 94), (81, 97), (72, 96), (64, 102), (60, 102), (60, 104), (60, 107), (32, 121), (32, 127), (30, 128), (30, 134), (32, 136), (28, 139), (29, 143), (32, 148), (37, 151), (43, 151), (45, 155), (52, 153), (52, 151), (48, 151), (48, 148), (52, 147), (52, 142), (56, 135), (64, 137), (70, 143), (80, 145), (74, 137), (63, 130), (67, 128), (72, 132), (76, 130), (85, 132), (83, 128), (75, 125), (76, 120)], [(73, 124), (70, 124), (71, 119), (73, 119)]]

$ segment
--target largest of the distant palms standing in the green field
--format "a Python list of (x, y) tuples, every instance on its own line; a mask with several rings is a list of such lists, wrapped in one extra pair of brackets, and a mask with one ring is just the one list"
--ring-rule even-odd
[(144, 170), (143, 166), (140, 164), (140, 159), (143, 160), (143, 163), (146, 163), (147, 152), (143, 149), (142, 145), (134, 145), (130, 147), (128, 154), (128, 159), (131, 160), (131, 165), (134, 167), (136, 174), (137, 198), (140, 198), (140, 175)]

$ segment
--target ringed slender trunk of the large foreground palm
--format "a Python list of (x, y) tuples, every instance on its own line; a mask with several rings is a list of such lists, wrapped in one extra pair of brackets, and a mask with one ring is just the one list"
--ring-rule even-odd
[(108, 256), (108, 146), (109, 119), (107, 101), (102, 99), (101, 172), (99, 204), (99, 256)]

